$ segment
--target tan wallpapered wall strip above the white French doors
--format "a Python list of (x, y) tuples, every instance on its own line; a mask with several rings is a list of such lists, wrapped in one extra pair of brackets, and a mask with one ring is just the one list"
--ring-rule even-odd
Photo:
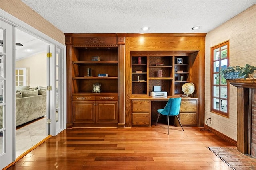
[(1, 0), (0, 8), (12, 16), (48, 35), (52, 39), (65, 44), (65, 35), (62, 31), (44, 19), (21, 0)]

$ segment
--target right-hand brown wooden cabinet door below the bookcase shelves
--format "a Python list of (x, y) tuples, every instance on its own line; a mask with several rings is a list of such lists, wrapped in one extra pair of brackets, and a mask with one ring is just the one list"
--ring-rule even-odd
[(97, 101), (96, 123), (118, 123), (118, 101)]

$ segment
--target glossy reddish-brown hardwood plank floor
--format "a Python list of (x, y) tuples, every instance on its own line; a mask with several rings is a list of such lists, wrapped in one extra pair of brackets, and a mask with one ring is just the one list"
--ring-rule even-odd
[(198, 127), (73, 128), (51, 137), (8, 170), (229, 169), (206, 146), (232, 146)]

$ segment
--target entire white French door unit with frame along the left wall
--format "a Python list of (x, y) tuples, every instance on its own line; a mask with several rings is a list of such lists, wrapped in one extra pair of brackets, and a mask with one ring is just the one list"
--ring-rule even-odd
[[(48, 42), (52, 57), (47, 63), (49, 86), (47, 118), (52, 119), (48, 134), (55, 136), (66, 129), (66, 46), (0, 9), (0, 169), (15, 160), (15, 31), (19, 25)], [(12, 24), (8, 24), (6, 22)]]

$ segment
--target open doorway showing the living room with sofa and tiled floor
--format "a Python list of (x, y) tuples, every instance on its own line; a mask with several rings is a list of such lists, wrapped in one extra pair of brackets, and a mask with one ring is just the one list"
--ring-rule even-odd
[(48, 43), (15, 28), (16, 158), (49, 135)]

